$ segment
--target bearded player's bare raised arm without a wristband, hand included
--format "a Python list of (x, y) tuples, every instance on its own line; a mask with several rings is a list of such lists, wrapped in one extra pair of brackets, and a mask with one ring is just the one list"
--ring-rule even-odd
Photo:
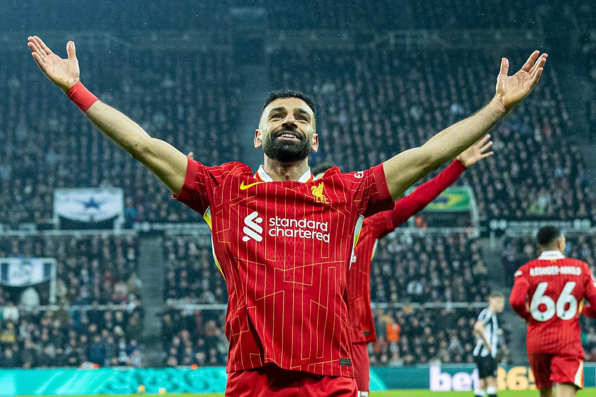
[(393, 198), (398, 198), (414, 182), (455, 158), (465, 148), (485, 135), (508, 111), (522, 101), (538, 83), (547, 54), (534, 51), (523, 67), (507, 76), (509, 61), (501, 60), (495, 96), (476, 114), (447, 127), (424, 145), (401, 152), (384, 162), (387, 184)]

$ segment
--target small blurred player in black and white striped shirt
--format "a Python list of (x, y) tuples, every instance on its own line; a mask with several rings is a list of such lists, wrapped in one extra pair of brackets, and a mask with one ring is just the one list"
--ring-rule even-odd
[(496, 315), (503, 311), (505, 297), (501, 292), (492, 292), (488, 296), (488, 308), (478, 315), (474, 324), (476, 346), (474, 362), (478, 366), (478, 388), (474, 396), (484, 397), (485, 390), (489, 397), (496, 396), (496, 355), (499, 348), (499, 322)]

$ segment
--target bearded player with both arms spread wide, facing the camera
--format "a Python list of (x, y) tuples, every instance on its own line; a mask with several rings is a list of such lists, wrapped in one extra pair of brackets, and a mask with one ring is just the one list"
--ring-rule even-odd
[[(538, 83), (546, 54), (535, 51), (513, 76), (503, 58), (495, 96), (476, 114), (373, 168), (313, 180), (316, 109), (299, 92), (265, 101), (254, 146), (256, 174), (241, 162), (207, 167), (148, 135), (82, 85), (75, 43), (68, 57), (29, 37), (33, 59), (105, 135), (175, 195), (203, 214), (226, 280), (231, 396), (355, 396), (344, 301), (353, 243), (365, 215), (393, 207), (414, 182), (472, 145)], [(210, 142), (206, 142), (207, 145)]]

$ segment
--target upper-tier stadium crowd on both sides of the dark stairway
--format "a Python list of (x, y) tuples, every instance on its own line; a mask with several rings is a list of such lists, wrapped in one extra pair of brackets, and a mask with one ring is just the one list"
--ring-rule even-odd
[[(511, 61), (521, 59), (520, 54), (511, 54)], [(360, 48), (315, 55), (310, 62), (296, 51), (272, 54), (272, 86), (297, 86), (315, 95), (317, 127), (325, 139), (313, 161), (331, 160), (344, 170), (370, 167), (420, 145), (481, 107), (493, 90), (494, 59), (474, 51), (430, 55)], [(281, 65), (278, 57), (288, 62)], [(93, 51), (80, 55), (89, 70), (86, 84), (156, 137), (193, 151), (205, 164), (239, 158), (232, 133), (237, 130), (240, 79), (229, 53), (221, 49), (210, 57), (193, 53), (183, 59), (178, 62), (160, 51), (131, 57), (125, 48), (114, 48), (109, 57)], [(55, 101), (71, 106), (60, 92), (46, 84), (25, 84), (42, 77), (33, 75), (35, 65), (20, 61), (8, 53), (0, 66), (0, 89), (7, 92), (0, 99), (5, 143), (0, 147), (0, 202), (5, 203), (0, 223), (48, 223), (53, 189), (82, 186), (126, 187), (128, 226), (133, 221), (200, 221), (199, 214), (173, 202), (155, 177), (85, 118), (57, 110)], [(18, 68), (10, 66), (17, 63)], [(458, 67), (451, 70), (449, 65)], [(540, 99), (520, 105), (496, 128), (492, 139), (497, 155), (458, 182), (474, 187), (480, 215), (515, 220), (596, 216), (585, 161), (568, 137), (572, 126), (557, 70), (547, 73), (537, 88)], [(218, 145), (201, 145), (205, 140)]]

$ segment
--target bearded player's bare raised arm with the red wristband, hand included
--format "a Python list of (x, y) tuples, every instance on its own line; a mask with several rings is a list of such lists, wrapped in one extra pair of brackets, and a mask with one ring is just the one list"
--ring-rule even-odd
[(169, 143), (151, 137), (125, 114), (97, 100), (80, 84), (74, 42), (69, 41), (66, 45), (66, 59), (54, 54), (37, 36), (30, 36), (27, 45), (45, 76), (60, 87), (92, 123), (156, 174), (173, 193), (180, 192), (184, 185), (187, 157)]

